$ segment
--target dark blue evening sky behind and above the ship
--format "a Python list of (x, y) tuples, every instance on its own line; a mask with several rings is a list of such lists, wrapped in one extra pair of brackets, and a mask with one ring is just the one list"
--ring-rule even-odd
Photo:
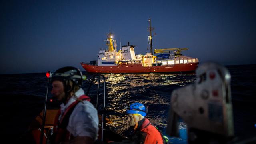
[(117, 0), (0, 2), (0, 74), (83, 70), (96, 60), (111, 27), (118, 49), (127, 41), (145, 54), (148, 18), (154, 48), (189, 48), (202, 64), (256, 64), (255, 0)]

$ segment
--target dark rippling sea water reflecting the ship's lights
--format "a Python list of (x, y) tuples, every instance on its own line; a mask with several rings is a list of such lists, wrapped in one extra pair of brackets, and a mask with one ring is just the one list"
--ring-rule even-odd
[[(235, 137), (256, 136), (256, 65), (226, 66), (231, 74), (231, 95)], [(85, 92), (92, 81), (87, 74), (82, 88)], [(130, 137), (126, 106), (141, 102), (148, 106), (146, 118), (164, 134), (167, 127), (168, 110), (172, 91), (192, 84), (196, 74), (104, 74), (106, 78), (106, 117), (113, 123), (107, 128)], [(10, 140), (17, 140), (28, 125), (44, 108), (47, 85), (46, 73), (2, 74), (0, 75), (0, 120), (1, 134)], [(103, 80), (100, 81), (99, 109), (103, 104)], [(48, 99), (53, 98), (49, 85)], [(97, 81), (88, 94), (96, 104)], [(49, 102), (48, 102), (49, 103)], [(54, 101), (47, 108), (59, 108)], [(180, 137), (170, 137), (169, 143), (186, 144), (186, 123), (180, 120)]]

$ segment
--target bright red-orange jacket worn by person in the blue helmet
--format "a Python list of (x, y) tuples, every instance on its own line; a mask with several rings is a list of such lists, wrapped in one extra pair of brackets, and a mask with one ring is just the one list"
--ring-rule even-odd
[(140, 126), (140, 132), (146, 134), (144, 144), (163, 144), (163, 138), (160, 132), (153, 126), (147, 118), (144, 118), (145, 121)]

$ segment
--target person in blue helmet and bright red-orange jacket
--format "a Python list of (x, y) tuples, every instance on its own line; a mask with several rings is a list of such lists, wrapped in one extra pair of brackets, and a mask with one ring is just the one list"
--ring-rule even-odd
[(163, 144), (160, 132), (144, 118), (148, 109), (141, 103), (132, 103), (127, 109), (129, 125), (134, 127), (135, 134), (132, 141), (136, 144)]

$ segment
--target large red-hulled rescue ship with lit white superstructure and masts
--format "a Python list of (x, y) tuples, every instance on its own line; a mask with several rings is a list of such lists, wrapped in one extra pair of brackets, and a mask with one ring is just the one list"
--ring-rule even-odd
[[(154, 49), (152, 47), (151, 19), (149, 18), (148, 48), (145, 55), (135, 54), (136, 45), (122, 46), (117, 50), (116, 40), (113, 39), (111, 32), (107, 34), (105, 50), (100, 49), (98, 60), (90, 63), (81, 62), (80, 64), (88, 73), (108, 74), (144, 74), (144, 73), (175, 73), (185, 74), (194, 73), (198, 67), (198, 58), (183, 56), (182, 51), (188, 48), (164, 48)], [(156, 55), (158, 54), (158, 55)], [(156, 56), (155, 56), (156, 55)]]

